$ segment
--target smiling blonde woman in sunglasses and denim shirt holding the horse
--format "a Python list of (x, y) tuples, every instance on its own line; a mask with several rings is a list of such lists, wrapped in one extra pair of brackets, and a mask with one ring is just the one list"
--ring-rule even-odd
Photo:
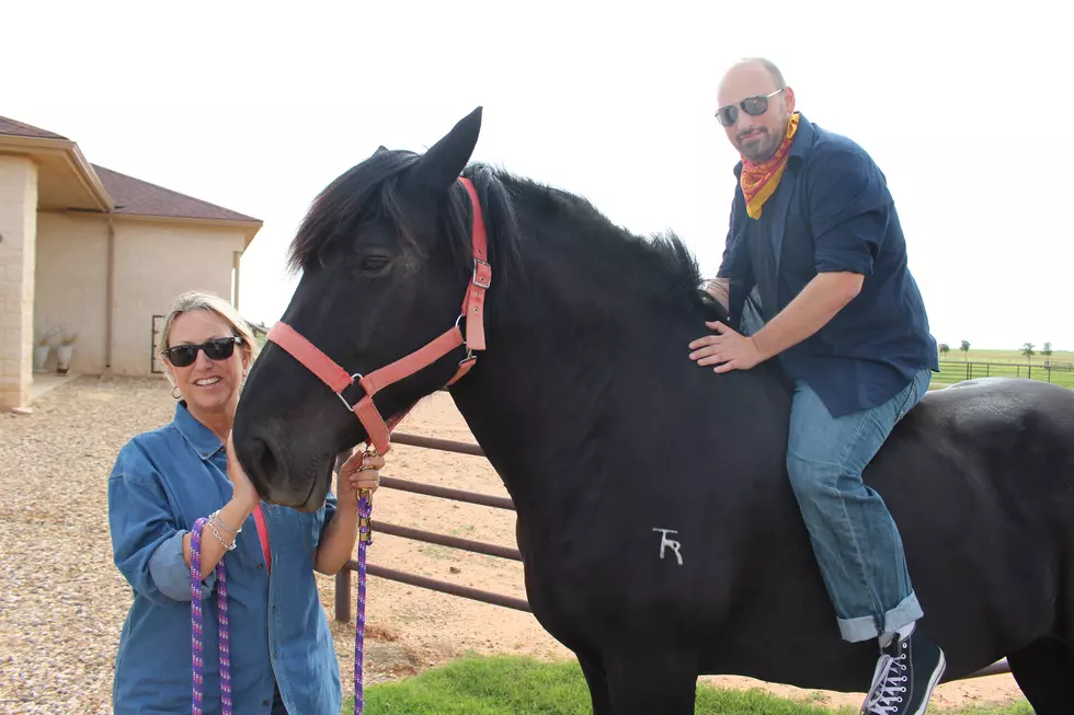
[(258, 353), (249, 325), (221, 298), (187, 292), (168, 314), (161, 344), (174, 418), (127, 442), (108, 480), (113, 556), (134, 590), (113, 712), (191, 712), (191, 529), (208, 518), (202, 712), (221, 712), (214, 568), (222, 560), (233, 712), (334, 715), (339, 662), (313, 570), (335, 574), (353, 553), (357, 493), (376, 489), (384, 460), (352, 455), (339, 496), (330, 493), (315, 512), (262, 503), (231, 459), (231, 423)]

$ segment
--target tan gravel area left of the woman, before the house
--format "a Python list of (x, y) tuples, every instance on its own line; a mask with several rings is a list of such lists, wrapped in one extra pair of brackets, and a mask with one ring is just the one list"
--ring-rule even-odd
[(112, 563), (107, 480), (171, 418), (163, 378), (82, 377), (0, 414), (0, 712), (111, 712), (130, 589)]

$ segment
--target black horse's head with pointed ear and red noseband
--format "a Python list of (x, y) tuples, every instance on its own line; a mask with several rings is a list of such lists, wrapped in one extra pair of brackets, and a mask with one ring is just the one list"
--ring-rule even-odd
[[(471, 206), (459, 176), (480, 125), (479, 107), (422, 155), (381, 147), (310, 207), (289, 256), (301, 280), (235, 419), (238, 459), (265, 499), (317, 508), (336, 454), (370, 437), (344, 403), (391, 382), (381, 372), (376, 387), (355, 377), (336, 390), (324, 371), (315, 374), (308, 355), (322, 354), (321, 365), (334, 362), (329, 372), (349, 382), (347, 374), (367, 377), (456, 325), (475, 265), (460, 247), (469, 243)], [(305, 342), (311, 347), (296, 347)], [(380, 415), (390, 422), (452, 380), (466, 349), (442, 347), (443, 359), (376, 392)]]

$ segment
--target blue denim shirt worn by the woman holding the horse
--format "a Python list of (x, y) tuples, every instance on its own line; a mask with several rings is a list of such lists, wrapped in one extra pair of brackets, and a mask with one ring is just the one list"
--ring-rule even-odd
[[(128, 441), (108, 478), (108, 527), (116, 566), (134, 602), (119, 636), (114, 713), (191, 712), (190, 568), (183, 535), (230, 500), (227, 450), (187, 412)], [(262, 503), (272, 554), (267, 570), (251, 516), (225, 553), (233, 710), (268, 715), (278, 683), (287, 711), (338, 715), (339, 661), (313, 575), (313, 555), (335, 514), (330, 493), (316, 512)], [(210, 529), (203, 533), (212, 540)], [(227, 538), (227, 535), (225, 535)], [(202, 581), (204, 712), (220, 713), (217, 579)]]

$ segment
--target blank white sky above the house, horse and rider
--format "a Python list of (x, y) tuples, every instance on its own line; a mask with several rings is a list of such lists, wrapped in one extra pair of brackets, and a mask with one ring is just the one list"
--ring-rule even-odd
[(318, 191), (380, 143), (426, 148), (479, 104), (475, 159), (633, 231), (674, 229), (715, 273), (738, 159), (716, 87), (764, 55), (806, 116), (887, 174), (938, 341), (1074, 349), (1058, 2), (268, 4), (0, 9), (0, 116), (265, 222), (242, 261), (253, 320), (286, 307), (285, 251)]

